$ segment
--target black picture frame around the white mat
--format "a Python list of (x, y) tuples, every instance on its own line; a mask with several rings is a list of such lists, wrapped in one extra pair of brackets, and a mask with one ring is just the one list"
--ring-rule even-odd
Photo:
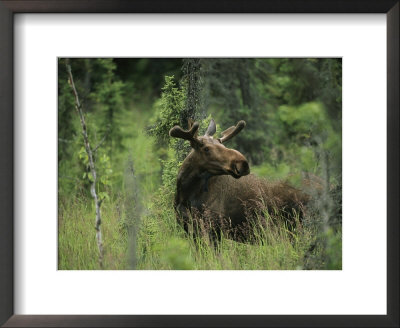
[[(399, 7), (398, 0), (0, 0), (0, 324), (4, 327), (399, 327)], [(14, 315), (13, 16), (16, 13), (385, 13), (387, 315)]]

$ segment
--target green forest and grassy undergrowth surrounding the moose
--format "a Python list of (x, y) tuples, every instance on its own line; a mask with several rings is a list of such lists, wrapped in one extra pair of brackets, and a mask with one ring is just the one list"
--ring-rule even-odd
[[(264, 211), (252, 242), (185, 232), (191, 147), (169, 131), (190, 120), (246, 122), (226, 147), (307, 192), (294, 228)], [(341, 156), (341, 58), (59, 58), (58, 269), (341, 270)]]

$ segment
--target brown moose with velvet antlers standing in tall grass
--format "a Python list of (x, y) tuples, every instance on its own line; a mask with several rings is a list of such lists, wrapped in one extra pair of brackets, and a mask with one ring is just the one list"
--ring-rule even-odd
[(213, 119), (204, 136), (198, 136), (198, 122), (189, 122), (188, 130), (176, 125), (169, 131), (171, 137), (189, 141), (192, 148), (179, 169), (174, 200), (177, 219), (186, 232), (193, 221), (207, 222), (212, 225), (214, 240), (223, 231), (228, 238), (245, 242), (251, 239), (245, 227), (260, 208), (279, 209), (290, 218), (309, 200), (307, 194), (287, 183), (270, 183), (250, 174), (245, 156), (224, 146), (245, 125), (239, 121), (220, 138), (213, 138)]

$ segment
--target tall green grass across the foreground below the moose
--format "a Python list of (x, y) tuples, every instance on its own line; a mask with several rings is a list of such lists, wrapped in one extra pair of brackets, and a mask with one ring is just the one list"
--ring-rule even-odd
[[(93, 216), (93, 209), (86, 203), (75, 199), (68, 205), (68, 211), (64, 207), (67, 204), (61, 205), (59, 269), (99, 269), (93, 223), (88, 220)], [(272, 222), (267, 216), (267, 224), (253, 226), (255, 240), (252, 243), (235, 242), (222, 235), (217, 245), (214, 245), (206, 235), (197, 239), (187, 235), (177, 223), (172, 206), (164, 205), (162, 200), (157, 199), (150, 204), (148, 214), (141, 218), (137, 232), (135, 269), (324, 268), (324, 263), (319, 260), (323, 249), (317, 248), (307, 253), (316, 236), (316, 231), (310, 227), (299, 225), (297, 231), (291, 232), (283, 220)], [(129, 229), (117, 210), (121, 206), (117, 200), (103, 205), (106, 269), (131, 269)], [(65, 216), (66, 212), (68, 217)], [(330, 249), (333, 252), (337, 250), (332, 247)], [(319, 263), (316, 263), (317, 260)], [(313, 267), (310, 267), (310, 263)], [(339, 269), (340, 266), (341, 263), (329, 263), (330, 269)]]

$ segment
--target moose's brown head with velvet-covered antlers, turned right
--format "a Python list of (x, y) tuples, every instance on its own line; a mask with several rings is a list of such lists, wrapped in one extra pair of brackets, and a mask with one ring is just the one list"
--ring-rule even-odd
[[(249, 163), (246, 158), (237, 150), (229, 149), (223, 144), (236, 136), (246, 123), (239, 121), (236, 126), (222, 132), (221, 138), (213, 138), (216, 132), (214, 120), (211, 120), (204, 136), (197, 136), (199, 123), (189, 122), (189, 129), (183, 130), (180, 126), (174, 126), (169, 135), (174, 138), (188, 140), (193, 148), (185, 161), (190, 162), (191, 170), (196, 174), (231, 175), (239, 179), (250, 173)], [(195, 172), (193, 172), (195, 173)]]

